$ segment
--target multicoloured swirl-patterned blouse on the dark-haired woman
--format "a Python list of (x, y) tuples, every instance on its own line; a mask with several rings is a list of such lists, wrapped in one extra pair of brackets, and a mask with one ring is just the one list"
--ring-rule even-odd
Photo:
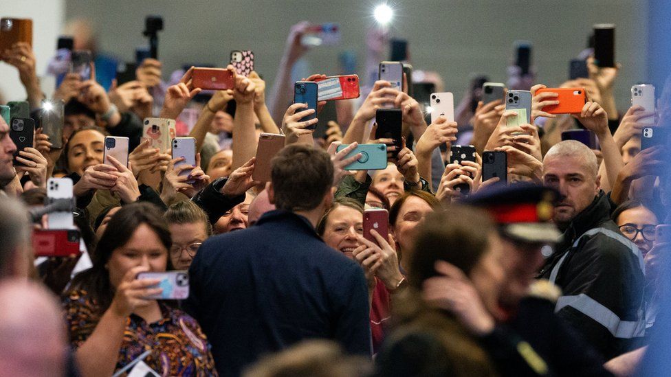
[[(146, 323), (137, 315), (128, 317), (115, 369), (151, 350), (143, 361), (162, 376), (217, 376), (210, 343), (200, 325), (185, 312), (158, 302), (164, 319)], [(70, 292), (63, 305), (70, 342), (77, 348), (94, 332), (102, 314), (96, 314), (97, 304), (85, 290)]]

